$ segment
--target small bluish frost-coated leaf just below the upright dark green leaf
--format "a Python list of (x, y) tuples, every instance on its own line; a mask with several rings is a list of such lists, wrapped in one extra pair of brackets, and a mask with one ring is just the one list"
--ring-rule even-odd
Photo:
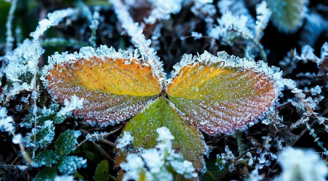
[(61, 174), (70, 175), (80, 169), (81, 167), (85, 168), (87, 166), (87, 160), (83, 157), (78, 156), (63, 156), (60, 158), (58, 164), (58, 171)]

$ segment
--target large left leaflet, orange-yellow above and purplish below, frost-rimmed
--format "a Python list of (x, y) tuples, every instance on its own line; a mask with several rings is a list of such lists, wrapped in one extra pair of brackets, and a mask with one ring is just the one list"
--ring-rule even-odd
[(43, 70), (45, 85), (59, 103), (74, 94), (85, 98), (75, 116), (101, 126), (115, 124), (134, 116), (161, 91), (151, 66), (136, 57), (107, 46), (83, 47), (78, 55), (55, 54)]

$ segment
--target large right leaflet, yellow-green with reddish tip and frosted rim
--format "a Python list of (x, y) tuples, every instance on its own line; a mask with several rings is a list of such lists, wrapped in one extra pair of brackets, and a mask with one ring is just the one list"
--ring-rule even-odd
[(281, 89), (276, 84), (281, 72), (263, 61), (229, 57), (225, 52), (218, 57), (205, 52), (198, 59), (187, 55), (175, 68), (167, 88), (169, 100), (187, 121), (209, 135), (232, 134), (261, 118)]

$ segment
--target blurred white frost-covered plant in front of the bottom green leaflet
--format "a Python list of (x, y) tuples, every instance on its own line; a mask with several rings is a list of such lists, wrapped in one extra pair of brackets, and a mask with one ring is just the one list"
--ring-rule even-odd
[[(183, 175), (185, 179), (196, 178), (198, 176), (193, 164), (184, 160), (179, 154), (172, 150), (172, 139), (174, 136), (168, 128), (160, 127), (156, 129), (158, 133), (158, 144), (153, 149), (139, 149), (138, 153), (127, 153), (126, 162), (122, 162), (120, 167), (125, 171), (122, 180), (139, 180), (142, 177), (147, 181), (174, 180), (172, 172)], [(125, 136), (125, 135), (128, 136)], [(124, 139), (117, 140), (119, 147), (131, 142), (131, 135), (127, 132)]]

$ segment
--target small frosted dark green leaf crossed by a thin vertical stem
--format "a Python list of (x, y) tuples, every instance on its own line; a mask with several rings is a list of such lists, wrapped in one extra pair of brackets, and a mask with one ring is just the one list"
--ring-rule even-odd
[(55, 127), (51, 120), (45, 121), (42, 126), (36, 126), (36, 129), (32, 129), (31, 133), (26, 136), (26, 143), (28, 146), (34, 146), (34, 133), (36, 135), (35, 147), (44, 148), (51, 143), (55, 136)]

